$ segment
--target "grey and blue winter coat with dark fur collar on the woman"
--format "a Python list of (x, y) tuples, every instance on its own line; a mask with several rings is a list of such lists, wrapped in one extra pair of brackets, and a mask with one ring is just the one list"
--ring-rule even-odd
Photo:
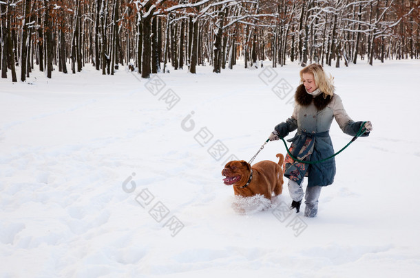
[[(319, 161), (334, 154), (333, 143), (328, 130), (333, 119), (344, 133), (355, 136), (362, 121), (353, 121), (347, 115), (339, 95), (324, 98), (323, 93), (313, 97), (306, 93), (304, 85), (297, 87), (295, 109), (292, 117), (275, 126), (280, 137), (297, 130), (290, 151), (293, 157), (302, 161)], [(368, 136), (368, 132), (362, 136)], [(334, 181), (335, 159), (322, 163), (305, 164), (294, 161), (288, 154), (284, 160), (284, 176), (301, 183), (308, 176), (308, 186), (326, 186)]]

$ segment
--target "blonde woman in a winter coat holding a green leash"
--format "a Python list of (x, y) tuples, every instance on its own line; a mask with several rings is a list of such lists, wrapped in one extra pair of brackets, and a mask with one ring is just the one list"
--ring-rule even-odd
[[(275, 126), (270, 141), (286, 137), (296, 130), (290, 152), (301, 161), (319, 161), (334, 154), (328, 130), (333, 118), (344, 133), (355, 136), (363, 121), (353, 121), (344, 110), (341, 98), (334, 93), (332, 79), (326, 76), (321, 65), (311, 64), (300, 71), (301, 84), (295, 93), (295, 109), (292, 117)], [(366, 131), (362, 137), (369, 135), (372, 124), (366, 121)], [(322, 163), (306, 164), (294, 161), (288, 154), (284, 160), (284, 176), (289, 179), (288, 190), (293, 200), (291, 209), (299, 212), (304, 191), (302, 182), (308, 176), (306, 187), (305, 213), (307, 217), (317, 216), (318, 198), (321, 188), (330, 185), (335, 176), (335, 159)]]

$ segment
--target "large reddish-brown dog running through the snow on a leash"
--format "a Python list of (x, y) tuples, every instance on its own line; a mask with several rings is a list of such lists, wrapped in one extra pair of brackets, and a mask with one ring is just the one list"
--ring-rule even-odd
[(275, 196), (282, 194), (283, 190), (283, 154), (277, 154), (279, 162), (260, 161), (253, 167), (246, 161), (230, 161), (222, 170), (225, 185), (233, 185), (235, 195), (251, 197), (261, 194), (271, 200), (274, 192)]

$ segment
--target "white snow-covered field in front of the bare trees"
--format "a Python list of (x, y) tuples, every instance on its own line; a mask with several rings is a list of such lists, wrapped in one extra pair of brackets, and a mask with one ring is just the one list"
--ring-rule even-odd
[(222, 183), (291, 116), (288, 64), (0, 80), (1, 277), (419, 277), (419, 60), (326, 67), (374, 129), (337, 157), (317, 218), (284, 209), (286, 183), (271, 204)]

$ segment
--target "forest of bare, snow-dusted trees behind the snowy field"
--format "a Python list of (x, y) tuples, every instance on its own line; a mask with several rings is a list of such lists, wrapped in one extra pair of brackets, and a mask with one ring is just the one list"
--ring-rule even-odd
[[(0, 0), (1, 78), (420, 58), (419, 0)], [(20, 70), (20, 76), (19, 72)], [(18, 75), (18, 76), (17, 76)]]

